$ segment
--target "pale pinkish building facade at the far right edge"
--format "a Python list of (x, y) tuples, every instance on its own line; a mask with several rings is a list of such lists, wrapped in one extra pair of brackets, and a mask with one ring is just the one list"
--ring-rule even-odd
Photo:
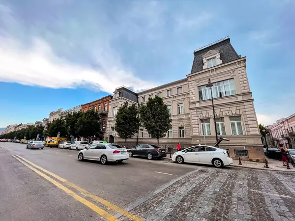
[(277, 120), (272, 125), (266, 126), (268, 130), (268, 146), (279, 147), (283, 144), (288, 149), (295, 149), (295, 113)]

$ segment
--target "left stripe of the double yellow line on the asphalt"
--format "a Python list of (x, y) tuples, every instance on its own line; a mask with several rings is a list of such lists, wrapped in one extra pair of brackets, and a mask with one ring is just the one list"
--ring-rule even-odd
[(96, 213), (98, 213), (103, 218), (108, 219), (109, 221), (115, 221), (115, 220), (117, 220), (117, 218), (114, 217), (113, 215), (111, 215), (108, 212), (102, 210), (98, 206), (96, 206), (93, 203), (89, 202), (88, 200), (84, 199), (80, 195), (74, 193), (70, 189), (62, 186), (59, 182), (55, 181), (54, 179), (50, 178), (49, 176), (45, 175), (44, 173), (40, 172), (39, 170), (35, 169), (34, 167), (29, 166), (27, 163), (25, 163), (24, 161), (18, 159), (14, 155), (12, 155), (12, 157), (14, 157), (15, 159), (17, 159), (19, 162), (21, 162), (25, 166), (28, 166), (35, 173), (39, 174), (40, 176), (44, 177), (45, 179), (47, 179), (48, 181), (50, 181), (51, 183), (53, 183), (54, 185), (56, 185), (59, 189), (63, 190), (65, 193), (68, 193), (69, 195), (71, 195), (74, 199), (76, 199), (76, 200), (82, 202), (84, 205), (88, 206), (90, 209), (92, 209), (93, 211), (95, 211)]

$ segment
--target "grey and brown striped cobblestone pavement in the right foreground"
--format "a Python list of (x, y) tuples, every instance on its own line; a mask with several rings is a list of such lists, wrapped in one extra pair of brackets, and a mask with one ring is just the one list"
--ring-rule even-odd
[(295, 173), (204, 167), (130, 212), (147, 221), (295, 221), (294, 181)]

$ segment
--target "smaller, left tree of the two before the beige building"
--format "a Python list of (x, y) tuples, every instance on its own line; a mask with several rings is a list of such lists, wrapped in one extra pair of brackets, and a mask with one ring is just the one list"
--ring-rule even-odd
[(120, 138), (125, 139), (125, 146), (128, 138), (132, 138), (138, 132), (140, 120), (138, 108), (135, 104), (129, 106), (128, 102), (118, 108), (116, 114), (115, 130)]

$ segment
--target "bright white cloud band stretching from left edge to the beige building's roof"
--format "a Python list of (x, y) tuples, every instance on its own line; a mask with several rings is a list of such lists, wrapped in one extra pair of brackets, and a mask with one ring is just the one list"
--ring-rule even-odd
[(0, 38), (0, 81), (38, 85), (51, 88), (102, 90), (112, 93), (118, 86), (132, 86), (135, 90), (156, 86), (125, 70), (120, 63), (102, 60), (99, 70), (72, 64), (56, 56), (50, 45), (34, 39), (32, 47), (25, 47), (11, 38)]

